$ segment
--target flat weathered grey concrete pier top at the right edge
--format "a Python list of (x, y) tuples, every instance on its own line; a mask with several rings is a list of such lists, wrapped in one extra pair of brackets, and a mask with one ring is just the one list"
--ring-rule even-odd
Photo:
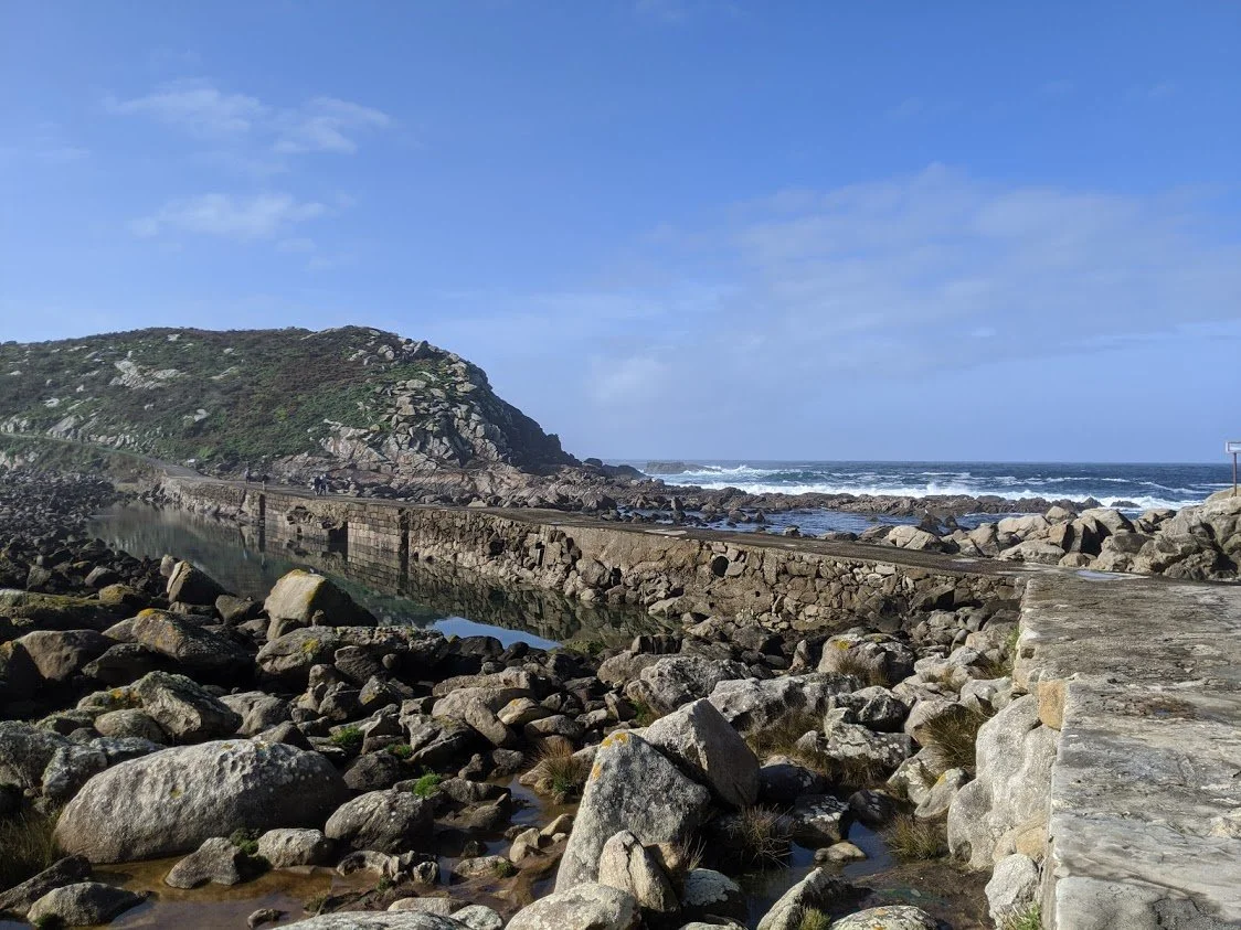
[(1241, 926), (1241, 587), (1049, 570), (1021, 629), (1061, 734), (1044, 925)]

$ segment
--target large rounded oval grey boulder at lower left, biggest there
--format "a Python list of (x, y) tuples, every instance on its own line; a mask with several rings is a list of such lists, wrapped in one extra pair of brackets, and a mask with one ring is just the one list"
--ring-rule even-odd
[(56, 841), (91, 862), (190, 852), (238, 828), (321, 823), (345, 794), (318, 753), (223, 740), (164, 749), (92, 777), (56, 825)]

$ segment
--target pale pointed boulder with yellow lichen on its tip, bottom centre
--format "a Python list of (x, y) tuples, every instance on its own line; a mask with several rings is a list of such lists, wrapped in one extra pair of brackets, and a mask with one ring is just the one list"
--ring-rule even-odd
[(642, 843), (689, 839), (701, 825), (710, 794), (683, 775), (640, 737), (613, 733), (594, 756), (556, 875), (565, 892), (598, 877), (603, 844), (622, 830)]

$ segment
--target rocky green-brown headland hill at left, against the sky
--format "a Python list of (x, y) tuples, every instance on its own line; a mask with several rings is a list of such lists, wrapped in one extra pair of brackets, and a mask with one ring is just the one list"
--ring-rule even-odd
[(0, 345), (0, 432), (277, 472), (573, 464), (486, 374), (424, 341), (346, 326), (150, 329)]

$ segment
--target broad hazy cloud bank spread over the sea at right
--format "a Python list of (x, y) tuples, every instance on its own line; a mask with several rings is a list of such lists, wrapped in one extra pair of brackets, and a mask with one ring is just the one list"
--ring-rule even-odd
[[(433, 335), (469, 346), (549, 422), (606, 422), (675, 449), (738, 423), (794, 435), (830, 422), (814, 404), (859, 391), (985, 365), (1037, 378), (1055, 357), (1241, 321), (1241, 242), (1221, 237), (1210, 202), (1004, 185), (941, 165), (776, 192), (664, 224), (633, 249), (633, 272), (594, 288), (457, 295)], [(511, 352), (531, 332), (540, 363), (562, 376), (546, 392)], [(606, 448), (611, 433), (591, 429)]]

